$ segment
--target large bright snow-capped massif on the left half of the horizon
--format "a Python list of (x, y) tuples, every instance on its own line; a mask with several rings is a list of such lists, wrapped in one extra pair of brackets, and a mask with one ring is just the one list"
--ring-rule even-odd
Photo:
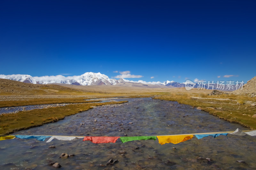
[(116, 83), (128, 81), (125, 79), (109, 79), (108, 76), (101, 73), (92, 73), (87, 72), (79, 76), (68, 76), (63, 75), (56, 76), (42, 76), (42, 77), (32, 77), (25, 74), (12, 74), (12, 75), (3, 75), (0, 74), (0, 78), (9, 79), (15, 81), (21, 81), (25, 83), (33, 84), (51, 84), (51, 83), (63, 83), (63, 84), (75, 84), (75, 85), (115, 85)]

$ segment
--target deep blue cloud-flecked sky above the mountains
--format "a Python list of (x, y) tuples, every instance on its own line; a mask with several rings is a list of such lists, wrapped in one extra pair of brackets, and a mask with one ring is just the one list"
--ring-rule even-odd
[(255, 9), (254, 0), (1, 1), (0, 74), (246, 82), (256, 76)]

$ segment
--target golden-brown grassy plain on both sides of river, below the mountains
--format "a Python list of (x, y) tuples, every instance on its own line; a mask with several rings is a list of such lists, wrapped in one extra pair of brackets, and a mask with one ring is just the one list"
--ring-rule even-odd
[[(18, 85), (18, 86), (17, 86)], [(60, 86), (62, 85), (62, 86)], [(17, 88), (17, 87), (18, 88)], [(76, 86), (76, 85), (36, 85), (0, 79), (0, 107), (34, 104), (81, 103), (47, 109), (35, 109), (0, 116), (0, 134), (40, 126), (63, 119), (65, 116), (91, 109), (92, 106), (116, 103), (86, 103), (84, 99), (105, 97), (154, 97), (177, 101), (182, 104), (201, 107), (201, 110), (232, 123), (256, 129), (256, 97), (238, 95), (209, 96), (212, 90), (185, 88), (154, 88), (133, 86)], [(92, 101), (90, 101), (92, 102)], [(238, 103), (238, 104), (237, 104)]]

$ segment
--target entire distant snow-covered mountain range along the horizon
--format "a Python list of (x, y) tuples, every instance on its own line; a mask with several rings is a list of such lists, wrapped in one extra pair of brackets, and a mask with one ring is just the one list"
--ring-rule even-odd
[[(132, 83), (142, 83), (142, 84), (153, 84), (153, 85), (163, 85), (167, 87), (185, 87), (186, 82), (179, 83), (175, 81), (153, 81), (153, 82), (146, 82), (146, 81), (129, 81), (126, 79), (110, 79), (107, 75), (101, 73), (92, 73), (87, 72), (79, 76), (68, 76), (65, 77), (63, 75), (56, 75), (56, 76), (41, 76), (41, 77), (32, 77), (31, 75), (27, 74), (12, 74), (12, 75), (4, 75), (0, 74), (1, 79), (9, 79), (15, 81), (21, 81), (24, 83), (33, 83), (33, 84), (54, 84), (54, 83), (62, 83), (62, 84), (73, 84), (73, 85), (116, 85), (121, 82), (132, 82)], [(194, 83), (194, 88), (198, 87), (197, 83)], [(205, 85), (207, 89), (207, 85)], [(212, 88), (211, 88), (212, 89)], [(217, 89), (217, 84), (214, 85), (214, 89)]]

